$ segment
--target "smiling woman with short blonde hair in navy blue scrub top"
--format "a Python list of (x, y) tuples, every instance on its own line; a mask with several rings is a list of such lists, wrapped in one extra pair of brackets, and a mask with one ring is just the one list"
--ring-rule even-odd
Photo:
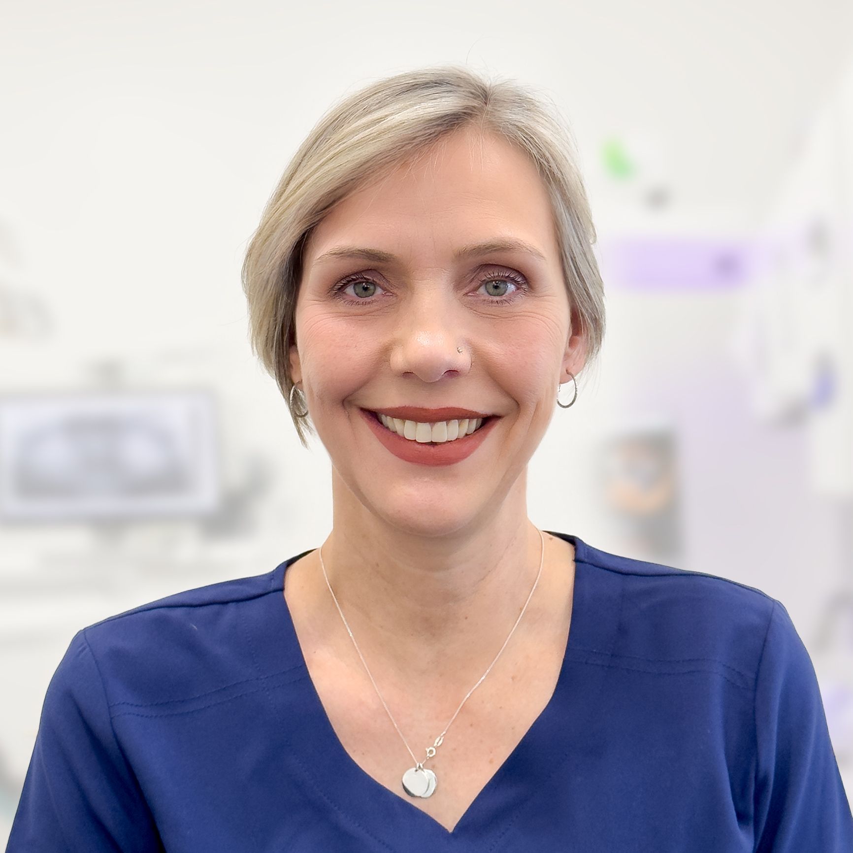
[(323, 117), (243, 271), (333, 530), (74, 637), (11, 853), (853, 850), (784, 606), (527, 517), (601, 346), (594, 241), (516, 84), (421, 69)]

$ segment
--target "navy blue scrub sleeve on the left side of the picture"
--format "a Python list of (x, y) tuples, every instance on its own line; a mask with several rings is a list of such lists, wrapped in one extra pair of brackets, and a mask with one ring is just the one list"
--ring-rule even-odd
[(113, 732), (85, 629), (51, 678), (6, 853), (164, 850)]

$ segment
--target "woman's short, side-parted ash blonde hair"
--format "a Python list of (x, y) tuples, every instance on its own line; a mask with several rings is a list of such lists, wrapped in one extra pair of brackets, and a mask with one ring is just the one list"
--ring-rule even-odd
[[(471, 125), (501, 136), (537, 166), (554, 211), (572, 330), (587, 337), (584, 369), (598, 356), (605, 310), (595, 226), (572, 131), (553, 102), (457, 65), (383, 78), (330, 107), (310, 131), (270, 196), (242, 265), (252, 352), (276, 380), (306, 448), (305, 432), (316, 431), (290, 406), (289, 353), (311, 230), (363, 184)], [(295, 396), (304, 408), (300, 392)]]

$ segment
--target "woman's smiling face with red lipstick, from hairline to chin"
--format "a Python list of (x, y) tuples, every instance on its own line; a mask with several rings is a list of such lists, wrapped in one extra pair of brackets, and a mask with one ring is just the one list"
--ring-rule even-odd
[[(495, 241), (532, 252), (461, 252)], [(293, 381), (347, 499), (394, 525), (440, 535), (478, 514), (494, 517), (496, 501), (525, 488), (520, 475), (557, 386), (584, 355), (570, 328), (547, 191), (530, 160), (497, 137), (444, 137), (341, 201), (306, 243)], [(403, 446), (368, 415), (399, 406), (494, 417), (482, 438), (465, 439), (474, 448), (467, 456), (442, 461), (438, 450), (459, 448)], [(413, 444), (423, 451), (417, 461)]]

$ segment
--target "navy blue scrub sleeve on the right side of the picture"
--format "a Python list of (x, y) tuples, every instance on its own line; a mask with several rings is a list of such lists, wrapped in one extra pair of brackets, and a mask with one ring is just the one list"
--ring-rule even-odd
[(851, 853), (853, 816), (809, 653), (774, 600), (756, 676), (756, 853)]

